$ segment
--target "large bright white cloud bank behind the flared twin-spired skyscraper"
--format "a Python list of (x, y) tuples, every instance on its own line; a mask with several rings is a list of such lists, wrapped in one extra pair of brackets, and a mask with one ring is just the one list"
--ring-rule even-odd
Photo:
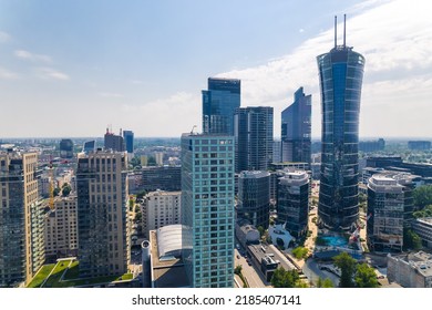
[[(422, 120), (424, 110), (420, 102), (432, 97), (429, 85), (432, 72), (432, 19), (429, 2), (409, 0), (368, 1), (358, 16), (347, 19), (347, 44), (366, 56), (361, 121), (377, 118), (377, 106), (388, 100), (392, 106), (407, 105), (403, 100), (411, 94), (410, 118)], [(338, 28), (338, 44), (342, 43), (342, 25)], [(312, 94), (312, 135), (320, 133), (320, 96), (316, 56), (333, 46), (333, 29), (305, 41), (290, 54), (266, 64), (218, 74), (224, 78), (241, 79), (241, 105), (270, 105), (275, 107), (275, 136), (280, 136), (280, 112), (292, 102), (292, 94), (299, 86)], [(398, 82), (399, 81), (399, 82)], [(421, 91), (419, 91), (419, 89)], [(374, 94), (374, 95), (371, 95)], [(393, 110), (394, 111), (394, 110)], [(430, 110), (429, 110), (430, 111)], [(381, 111), (382, 112), (382, 111)], [(371, 114), (368, 114), (371, 113)], [(393, 115), (394, 117), (397, 115)], [(401, 122), (407, 114), (388, 122)], [(432, 132), (432, 122), (415, 123), (418, 135)], [(401, 127), (382, 126), (377, 131), (360, 123), (360, 135), (403, 135)]]

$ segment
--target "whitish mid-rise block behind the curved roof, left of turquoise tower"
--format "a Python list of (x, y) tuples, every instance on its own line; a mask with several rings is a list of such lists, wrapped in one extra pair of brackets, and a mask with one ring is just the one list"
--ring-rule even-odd
[(150, 230), (181, 224), (182, 192), (156, 190), (144, 197), (142, 205), (143, 231), (150, 238)]

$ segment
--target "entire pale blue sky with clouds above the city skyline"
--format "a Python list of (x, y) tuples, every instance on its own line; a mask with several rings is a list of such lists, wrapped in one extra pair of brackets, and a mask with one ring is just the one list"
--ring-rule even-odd
[(318, 137), (315, 56), (344, 12), (367, 59), (360, 135), (430, 136), (432, 22), (415, 3), (0, 0), (0, 136), (179, 136), (200, 127), (207, 78), (227, 76), (243, 106), (275, 107), (275, 136), (305, 86)]

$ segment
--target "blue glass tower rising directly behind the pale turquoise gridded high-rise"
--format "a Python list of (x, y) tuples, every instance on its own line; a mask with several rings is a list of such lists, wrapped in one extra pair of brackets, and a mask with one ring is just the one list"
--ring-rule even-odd
[(208, 79), (203, 91), (203, 133), (234, 135), (234, 112), (240, 107), (240, 80)]

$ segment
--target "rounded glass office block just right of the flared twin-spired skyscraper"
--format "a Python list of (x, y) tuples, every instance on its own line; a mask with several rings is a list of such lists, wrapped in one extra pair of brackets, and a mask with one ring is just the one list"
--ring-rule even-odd
[(407, 173), (373, 175), (368, 183), (367, 239), (369, 248), (381, 252), (400, 252), (403, 228), (413, 221), (413, 196), (416, 176)]

